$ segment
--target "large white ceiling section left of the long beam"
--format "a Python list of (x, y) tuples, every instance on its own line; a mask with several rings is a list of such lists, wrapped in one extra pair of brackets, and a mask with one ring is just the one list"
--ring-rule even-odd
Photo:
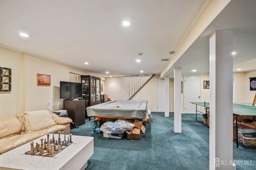
[(102, 76), (159, 74), (205, 2), (0, 0), (0, 44)]

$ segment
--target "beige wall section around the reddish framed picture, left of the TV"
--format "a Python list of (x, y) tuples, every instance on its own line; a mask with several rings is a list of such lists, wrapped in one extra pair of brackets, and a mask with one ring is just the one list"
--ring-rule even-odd
[[(60, 86), (60, 81), (69, 81), (69, 67), (40, 57), (26, 54), (26, 92), (25, 110), (47, 109), (47, 102), (52, 105), (52, 86)], [(51, 76), (50, 86), (37, 86), (36, 74)], [(51, 107), (49, 107), (52, 110)]]

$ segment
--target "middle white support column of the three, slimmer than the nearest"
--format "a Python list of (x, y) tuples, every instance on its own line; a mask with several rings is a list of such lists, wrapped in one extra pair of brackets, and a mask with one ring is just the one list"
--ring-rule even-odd
[(174, 68), (174, 132), (181, 133), (181, 68)]

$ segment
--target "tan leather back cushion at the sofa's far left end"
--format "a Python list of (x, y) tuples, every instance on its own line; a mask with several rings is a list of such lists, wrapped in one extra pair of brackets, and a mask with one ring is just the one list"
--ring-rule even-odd
[(16, 116), (8, 116), (0, 118), (0, 139), (11, 137), (21, 131), (21, 123)]

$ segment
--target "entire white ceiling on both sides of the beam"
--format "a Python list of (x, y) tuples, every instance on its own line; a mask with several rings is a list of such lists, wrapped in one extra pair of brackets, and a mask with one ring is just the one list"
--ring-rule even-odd
[[(206, 1), (0, 0), (0, 44), (106, 77), (140, 70), (159, 74), (167, 63), (161, 59), (172, 57), (168, 52), (178, 47)], [(172, 76), (176, 66), (182, 75), (208, 73), (208, 37), (217, 29), (234, 29), (234, 69), (256, 70), (254, 62), (243, 63), (256, 58), (255, 7), (255, 0), (231, 0), (165, 75)], [(123, 19), (132, 25), (121, 26)]]

